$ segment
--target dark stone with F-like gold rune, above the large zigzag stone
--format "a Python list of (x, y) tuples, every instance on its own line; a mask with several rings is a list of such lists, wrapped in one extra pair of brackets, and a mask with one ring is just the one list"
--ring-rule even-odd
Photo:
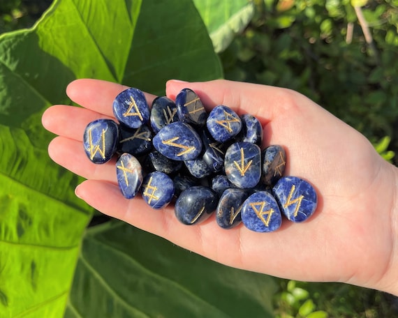
[(169, 123), (178, 121), (177, 106), (168, 97), (156, 97), (152, 102), (151, 116), (149, 119), (154, 132), (159, 132), (159, 130)]

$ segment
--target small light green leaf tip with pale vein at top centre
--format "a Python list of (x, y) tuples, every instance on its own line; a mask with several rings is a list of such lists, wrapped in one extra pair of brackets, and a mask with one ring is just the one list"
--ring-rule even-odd
[(219, 53), (226, 50), (235, 35), (242, 32), (254, 15), (251, 0), (193, 0)]

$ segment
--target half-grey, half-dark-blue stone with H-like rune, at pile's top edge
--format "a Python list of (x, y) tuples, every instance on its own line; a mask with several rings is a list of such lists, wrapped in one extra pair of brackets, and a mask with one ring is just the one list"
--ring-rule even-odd
[(205, 126), (207, 112), (194, 91), (182, 89), (175, 97), (175, 105), (180, 121), (195, 127)]

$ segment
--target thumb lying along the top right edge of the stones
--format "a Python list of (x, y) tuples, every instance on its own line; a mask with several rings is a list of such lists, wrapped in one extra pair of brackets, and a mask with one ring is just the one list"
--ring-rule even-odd
[(184, 88), (195, 91), (210, 109), (226, 105), (239, 115), (249, 113), (256, 116), (263, 125), (274, 119), (276, 109), (281, 112), (295, 105), (292, 96), (295, 92), (288, 89), (227, 80), (195, 83), (170, 80), (166, 83), (166, 94), (175, 99)]

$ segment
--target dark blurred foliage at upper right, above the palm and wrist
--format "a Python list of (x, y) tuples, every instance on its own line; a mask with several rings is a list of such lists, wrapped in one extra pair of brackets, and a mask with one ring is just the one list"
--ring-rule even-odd
[(373, 141), (394, 136), (398, 8), (369, 1), (362, 13), (373, 46), (348, 0), (258, 0), (249, 27), (221, 54), (226, 78), (295, 89)]

